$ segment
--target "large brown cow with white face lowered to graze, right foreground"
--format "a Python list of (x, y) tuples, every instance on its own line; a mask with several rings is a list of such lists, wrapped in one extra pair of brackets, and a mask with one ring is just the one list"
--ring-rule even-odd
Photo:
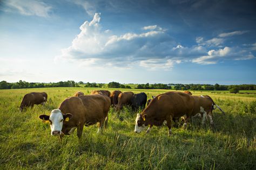
[[(171, 134), (172, 119), (187, 114), (187, 119), (193, 112), (194, 98), (181, 92), (167, 92), (153, 98), (142, 114), (137, 114), (134, 132), (140, 133), (145, 126), (149, 125), (147, 133), (153, 125), (160, 126), (166, 121)], [(186, 122), (185, 122), (186, 123)]]

